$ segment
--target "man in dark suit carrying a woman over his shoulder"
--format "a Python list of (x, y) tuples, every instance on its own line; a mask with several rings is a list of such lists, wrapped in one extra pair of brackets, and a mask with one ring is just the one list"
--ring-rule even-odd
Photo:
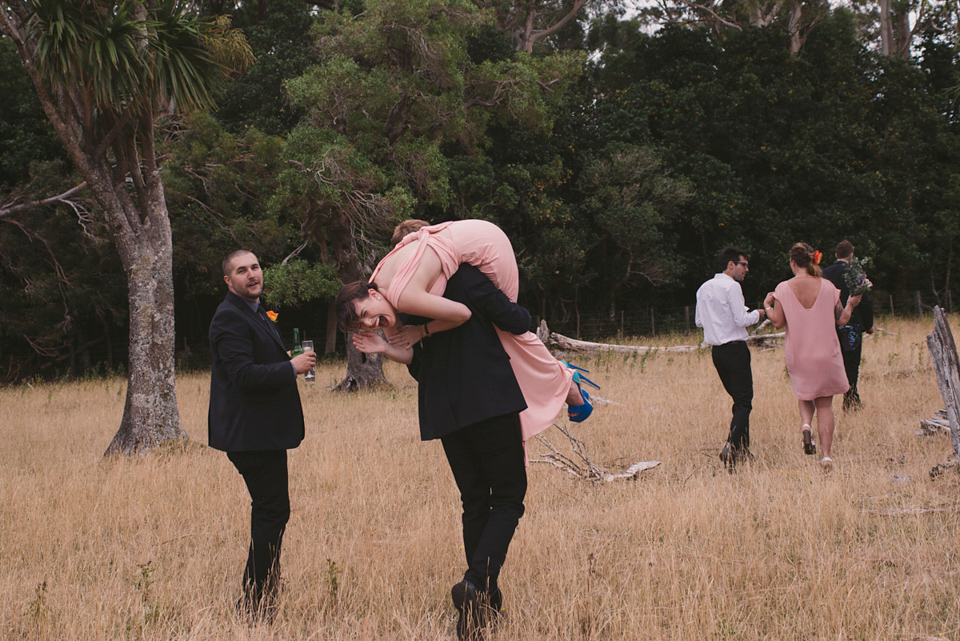
[(422, 340), (411, 345), (411, 334), (401, 332), (387, 346), (378, 335), (358, 332), (355, 342), (360, 351), (383, 351), (407, 363), (419, 383), (420, 438), (440, 439), (463, 503), (467, 571), (451, 597), (458, 637), (475, 640), (502, 607), (498, 578), (527, 491), (519, 417), (527, 404), (494, 324), (522, 334), (530, 313), (468, 264), (451, 276), (443, 295), (469, 307), (470, 319), (431, 334), (429, 319), (401, 315)]

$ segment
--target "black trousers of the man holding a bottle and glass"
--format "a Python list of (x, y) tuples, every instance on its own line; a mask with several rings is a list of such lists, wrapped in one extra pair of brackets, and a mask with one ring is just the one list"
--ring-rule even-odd
[(290, 520), (287, 451), (227, 452), (250, 492), (250, 549), (243, 571), (244, 594), (254, 605), (276, 587), (280, 545)]

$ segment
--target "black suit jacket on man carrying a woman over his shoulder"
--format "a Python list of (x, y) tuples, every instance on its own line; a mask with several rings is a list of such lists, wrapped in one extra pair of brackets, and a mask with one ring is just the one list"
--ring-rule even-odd
[[(444, 298), (473, 313), (454, 329), (438, 332), (414, 346), (408, 369), (419, 383), (420, 438), (446, 436), (480, 421), (527, 408), (500, 337), (530, 329), (530, 312), (510, 302), (476, 267), (462, 264), (447, 281)], [(406, 323), (426, 319), (406, 317)]]

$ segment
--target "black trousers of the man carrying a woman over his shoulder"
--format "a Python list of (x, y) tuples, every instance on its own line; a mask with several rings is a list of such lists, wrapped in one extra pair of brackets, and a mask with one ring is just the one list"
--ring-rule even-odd
[(463, 502), (464, 578), (496, 592), (527, 493), (520, 417), (497, 416), (440, 440)]

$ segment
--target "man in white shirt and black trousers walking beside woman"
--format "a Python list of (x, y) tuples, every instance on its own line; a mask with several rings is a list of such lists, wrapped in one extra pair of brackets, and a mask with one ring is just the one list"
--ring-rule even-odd
[(763, 320), (763, 309), (750, 311), (743, 302), (740, 281), (749, 270), (747, 255), (736, 247), (724, 247), (718, 257), (720, 273), (697, 290), (697, 327), (712, 346), (713, 365), (727, 393), (733, 397), (733, 418), (720, 460), (732, 473), (750, 454), (750, 410), (753, 409), (753, 372), (747, 330)]

